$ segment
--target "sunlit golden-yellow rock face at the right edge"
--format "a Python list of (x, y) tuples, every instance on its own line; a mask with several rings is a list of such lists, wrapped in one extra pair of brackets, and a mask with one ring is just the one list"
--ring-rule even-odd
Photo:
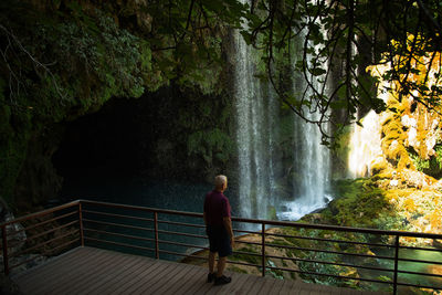
[[(439, 64), (434, 64), (439, 71)], [(390, 71), (389, 65), (370, 66), (371, 75), (379, 78), (378, 96), (386, 103), (387, 109), (379, 115), (381, 126), (382, 155), (390, 168), (398, 175), (404, 170), (418, 170), (434, 178), (442, 177), (442, 125), (439, 109), (429, 109), (420, 103), (418, 96), (401, 94), (401, 85), (383, 80), (382, 74)], [(413, 75), (410, 78), (422, 80)], [(423, 80), (422, 80), (423, 82)], [(425, 82), (429, 85), (434, 83)], [(430, 85), (431, 86), (431, 85)], [(376, 172), (376, 171), (375, 171)], [(406, 172), (402, 178), (404, 186), (423, 188), (429, 179), (423, 179), (418, 173)], [(430, 181), (431, 182), (431, 181)], [(393, 182), (391, 187), (400, 187)]]

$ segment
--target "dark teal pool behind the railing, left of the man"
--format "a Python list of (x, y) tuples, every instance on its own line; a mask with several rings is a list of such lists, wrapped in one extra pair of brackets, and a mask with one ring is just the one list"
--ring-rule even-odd
[[(203, 212), (203, 201), (206, 193), (212, 190), (212, 186), (209, 183), (201, 182), (185, 182), (185, 181), (170, 181), (170, 180), (146, 180), (140, 177), (136, 178), (109, 178), (109, 177), (94, 177), (88, 176), (84, 178), (77, 178), (75, 180), (67, 179), (64, 183), (64, 188), (61, 193), (61, 202), (66, 202), (76, 199), (85, 199), (93, 201), (103, 201), (103, 202), (113, 202), (120, 204), (130, 204), (130, 206), (141, 206), (148, 208), (157, 208), (157, 209), (168, 209), (168, 210), (178, 210), (186, 212)], [(235, 215), (238, 210), (238, 203), (234, 198), (231, 198), (231, 192), (228, 190), (224, 192), (225, 196), (230, 199), (232, 207), (232, 214)], [(90, 208), (92, 210), (96, 210), (98, 208)], [(114, 210), (108, 208), (99, 208), (99, 211), (118, 213), (118, 214), (129, 214), (143, 218), (152, 218), (151, 213), (145, 212), (136, 212), (136, 211), (122, 211)], [(102, 222), (123, 222), (124, 224), (134, 225), (134, 226), (145, 226), (152, 228), (151, 222), (143, 222), (143, 221), (130, 221), (118, 218), (109, 218), (103, 217), (98, 214), (84, 214), (86, 219), (98, 220)], [(179, 215), (169, 215), (169, 214), (159, 214), (159, 220), (164, 221), (173, 221), (173, 222), (183, 222), (191, 224), (203, 224), (202, 219), (198, 218), (186, 218)], [(235, 225), (234, 225), (235, 226)], [(236, 225), (238, 226), (238, 225)], [(130, 234), (135, 236), (148, 238), (152, 239), (154, 234), (151, 232), (131, 230), (131, 229), (120, 229), (117, 226), (110, 225), (97, 225), (96, 223), (90, 222), (85, 223), (85, 228), (115, 232), (120, 234)], [(186, 232), (190, 234), (206, 235), (204, 229), (199, 228), (190, 228), (190, 226), (179, 226), (173, 224), (160, 223), (159, 230), (165, 231), (173, 231), (173, 232)], [(95, 239), (105, 239), (112, 242), (129, 242), (136, 246), (150, 247), (154, 249), (155, 245), (152, 242), (146, 241), (137, 241), (127, 239), (122, 239), (113, 235), (104, 235), (86, 232), (86, 235), (93, 236)], [(167, 233), (160, 233), (159, 239), (164, 241), (172, 241), (199, 246), (207, 246), (208, 241), (199, 238), (189, 238), (189, 236), (178, 236), (171, 235)], [(87, 241), (87, 240), (86, 240)], [(99, 242), (88, 242), (90, 245), (101, 246), (105, 249), (113, 249), (122, 252), (128, 252), (133, 254), (141, 254), (147, 256), (154, 256), (154, 253), (150, 251), (146, 252), (143, 250), (130, 249), (118, 245), (108, 245)], [(178, 252), (178, 253), (191, 253), (198, 251), (198, 247), (189, 249), (186, 246), (177, 246), (171, 244), (160, 244), (160, 250)], [(170, 255), (170, 254), (161, 254), (161, 259), (168, 260), (180, 260), (182, 256)]]

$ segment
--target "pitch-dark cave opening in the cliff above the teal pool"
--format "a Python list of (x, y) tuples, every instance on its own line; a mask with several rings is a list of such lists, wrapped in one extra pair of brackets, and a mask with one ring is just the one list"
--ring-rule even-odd
[(130, 186), (191, 179), (181, 143), (173, 140), (179, 96), (179, 89), (165, 87), (140, 98), (114, 98), (65, 124), (52, 157), (63, 178), (60, 199), (120, 201), (115, 194), (126, 194)]

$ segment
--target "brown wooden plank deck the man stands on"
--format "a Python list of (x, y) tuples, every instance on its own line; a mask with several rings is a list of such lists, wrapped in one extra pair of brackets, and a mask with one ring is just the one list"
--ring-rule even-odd
[(12, 280), (23, 294), (373, 294), (349, 288), (228, 273), (232, 283), (206, 282), (207, 268), (76, 247)]

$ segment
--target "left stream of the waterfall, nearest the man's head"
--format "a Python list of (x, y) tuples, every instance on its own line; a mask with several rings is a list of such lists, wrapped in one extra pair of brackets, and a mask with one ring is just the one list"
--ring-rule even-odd
[(234, 34), (234, 97), (239, 158), (240, 212), (248, 218), (269, 218), (274, 206), (273, 143), (278, 105), (270, 91), (253, 76), (252, 50)]

